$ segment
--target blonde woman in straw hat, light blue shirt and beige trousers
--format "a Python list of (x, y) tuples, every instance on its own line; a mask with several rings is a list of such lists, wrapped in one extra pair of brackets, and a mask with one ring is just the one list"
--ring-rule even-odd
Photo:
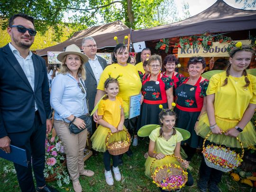
[[(88, 57), (81, 53), (79, 47), (72, 44), (57, 57), (62, 62), (59, 75), (52, 83), (51, 106), (55, 110), (54, 128), (56, 134), (64, 143), (67, 168), (73, 182), (75, 192), (82, 192), (79, 182), (80, 175), (92, 176), (94, 172), (84, 169), (83, 150), (87, 139), (87, 125), (79, 118), (88, 113), (86, 103), (85, 69), (83, 63)], [(73, 122), (79, 129), (79, 134), (70, 133), (68, 125)]]

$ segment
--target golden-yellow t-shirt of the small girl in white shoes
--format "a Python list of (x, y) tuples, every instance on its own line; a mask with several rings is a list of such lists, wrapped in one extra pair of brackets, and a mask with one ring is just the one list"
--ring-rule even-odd
[(121, 109), (123, 108), (123, 100), (116, 97), (116, 100), (101, 100), (98, 108), (98, 115), (102, 115), (102, 119), (110, 125), (117, 127), (121, 119)]

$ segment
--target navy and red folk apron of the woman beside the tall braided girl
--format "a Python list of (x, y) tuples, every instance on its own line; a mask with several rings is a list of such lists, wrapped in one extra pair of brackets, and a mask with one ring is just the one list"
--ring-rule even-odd
[(200, 77), (195, 85), (186, 84), (189, 80), (187, 78), (179, 87), (175, 89), (177, 96), (177, 104), (175, 112), (177, 114), (176, 126), (183, 128), (190, 132), (191, 137), (182, 142), (188, 143), (190, 147), (201, 147), (202, 138), (199, 137), (195, 131), (194, 126), (201, 113), (203, 106), (203, 98), (200, 97)]

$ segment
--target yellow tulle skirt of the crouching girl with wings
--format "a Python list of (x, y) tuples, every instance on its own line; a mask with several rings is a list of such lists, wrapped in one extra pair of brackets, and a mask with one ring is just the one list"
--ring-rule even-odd
[[(151, 166), (151, 164), (154, 160), (155, 160), (155, 158), (151, 158), (149, 156), (146, 158), (145, 175), (148, 176), (148, 177), (151, 177), (150, 166)], [(173, 163), (173, 164), (176, 164), (176, 165), (181, 165), (176, 158), (167, 156), (163, 159), (155, 161), (155, 163), (152, 165), (153, 173), (154, 173), (156, 167), (163, 166), (163, 165), (169, 164), (169, 163)]]

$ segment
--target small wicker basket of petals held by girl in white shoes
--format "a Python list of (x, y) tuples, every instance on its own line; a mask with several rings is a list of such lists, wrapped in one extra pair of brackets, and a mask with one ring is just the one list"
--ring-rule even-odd
[[(110, 153), (110, 155), (120, 155), (129, 150), (131, 136), (126, 129), (122, 130), (126, 133), (126, 140), (111, 142), (109, 143), (110, 136), (112, 135), (111, 131), (109, 131), (107, 138), (106, 138), (106, 146)], [(115, 134), (115, 133), (114, 133)]]

